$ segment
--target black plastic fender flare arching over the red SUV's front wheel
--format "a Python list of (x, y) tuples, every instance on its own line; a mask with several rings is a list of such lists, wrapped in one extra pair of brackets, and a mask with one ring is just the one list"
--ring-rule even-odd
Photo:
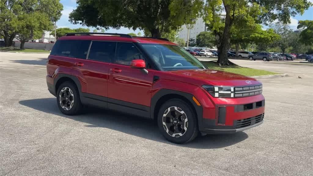
[(154, 117), (154, 109), (156, 107), (157, 102), (162, 98), (163, 96), (170, 95), (170, 94), (176, 94), (179, 96), (182, 96), (186, 98), (192, 105), (192, 109), (196, 111), (197, 114), (197, 119), (198, 119), (198, 127), (199, 130), (203, 129), (203, 107), (198, 106), (196, 102), (193, 101), (192, 94), (189, 94), (187, 92), (182, 92), (182, 91), (176, 91), (176, 90), (171, 90), (171, 89), (161, 89), (159, 90), (152, 98), (151, 98), (151, 108), (150, 108), (150, 117), (153, 119)]

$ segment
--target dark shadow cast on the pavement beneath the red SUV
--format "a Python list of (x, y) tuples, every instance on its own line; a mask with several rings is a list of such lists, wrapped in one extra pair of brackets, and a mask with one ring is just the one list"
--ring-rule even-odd
[(88, 123), (84, 127), (101, 127), (120, 131), (123, 133), (143, 137), (146, 139), (164, 142), (189, 148), (223, 148), (244, 141), (248, 138), (245, 132), (237, 132), (229, 135), (206, 135), (198, 137), (187, 144), (178, 145), (168, 142), (159, 132), (156, 123), (152, 120), (143, 119), (136, 116), (126, 115), (115, 111), (103, 110), (97, 108), (87, 109), (84, 114), (77, 116), (67, 116), (62, 114), (56, 104), (55, 98), (42, 98), (19, 101), (23, 106), (28, 106), (38, 111), (55, 114), (75, 121)]

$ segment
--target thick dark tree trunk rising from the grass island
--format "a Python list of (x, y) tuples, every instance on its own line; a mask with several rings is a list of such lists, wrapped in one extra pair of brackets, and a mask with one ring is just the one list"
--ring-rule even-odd
[(229, 5), (225, 4), (223, 1), (225, 11), (226, 11), (226, 18), (225, 18), (225, 27), (223, 31), (223, 36), (221, 39), (220, 45), (220, 54), (218, 56), (218, 65), (229, 65), (229, 60), (227, 57), (227, 52), (229, 49), (229, 42), (230, 42), (230, 27), (231, 27), (231, 19), (230, 19), (230, 7)]

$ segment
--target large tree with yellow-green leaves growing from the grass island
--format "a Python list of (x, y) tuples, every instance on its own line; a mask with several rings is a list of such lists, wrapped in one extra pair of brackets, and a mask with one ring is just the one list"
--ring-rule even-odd
[[(251, 23), (269, 23), (278, 19), (283, 23), (290, 22), (290, 16), (303, 14), (311, 6), (307, 0), (207, 0), (203, 10), (203, 19), (209, 24), (216, 35), (217, 46), (220, 52), (219, 65), (230, 65), (227, 58), (231, 28), (240, 19), (247, 19)], [(225, 18), (221, 19), (222, 12)]]

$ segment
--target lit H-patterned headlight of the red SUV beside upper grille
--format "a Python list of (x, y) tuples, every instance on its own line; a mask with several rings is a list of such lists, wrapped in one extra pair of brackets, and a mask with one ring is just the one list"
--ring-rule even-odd
[(213, 97), (221, 98), (233, 98), (234, 97), (234, 87), (224, 87), (224, 86), (213, 86), (213, 85), (203, 85), (202, 86), (209, 94)]

